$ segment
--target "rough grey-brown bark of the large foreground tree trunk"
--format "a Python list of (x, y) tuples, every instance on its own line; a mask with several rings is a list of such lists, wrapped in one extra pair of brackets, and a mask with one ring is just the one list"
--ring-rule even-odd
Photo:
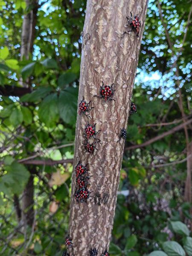
[[(98, 255), (108, 249), (116, 207), (119, 174), (124, 141), (118, 142), (117, 133), (127, 127), (131, 96), (136, 75), (140, 43), (143, 35), (147, 0), (88, 0), (83, 31), (79, 102), (84, 99), (94, 107), (89, 113), (77, 117), (74, 166), (88, 163), (89, 190), (93, 191), (86, 203), (76, 203), (73, 171), (69, 236), (73, 239), (70, 255), (87, 256), (90, 248)], [(134, 32), (122, 35), (127, 26), (126, 16), (138, 14), (140, 35)], [(100, 86), (115, 84), (115, 101), (103, 102)], [(87, 123), (101, 130), (94, 155), (84, 153), (83, 132)]]

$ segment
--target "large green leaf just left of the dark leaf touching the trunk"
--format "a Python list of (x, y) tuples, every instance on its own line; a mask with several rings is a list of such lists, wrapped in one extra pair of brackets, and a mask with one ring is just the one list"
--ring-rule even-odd
[(39, 119), (50, 127), (58, 121), (58, 96), (56, 93), (48, 95), (39, 105)]

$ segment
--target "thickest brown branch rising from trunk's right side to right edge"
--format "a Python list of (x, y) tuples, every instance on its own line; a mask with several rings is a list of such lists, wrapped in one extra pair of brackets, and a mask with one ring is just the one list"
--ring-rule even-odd
[(164, 132), (163, 134), (160, 134), (160, 135), (152, 138), (151, 140), (145, 141), (144, 143), (139, 144), (139, 145), (129, 146), (129, 147), (125, 148), (125, 150), (131, 150), (131, 149), (146, 147), (146, 146), (150, 145), (151, 143), (154, 143), (157, 140), (160, 140), (160, 139), (162, 139), (162, 138), (164, 138), (164, 137), (166, 137), (166, 136), (168, 136), (170, 134), (175, 133), (176, 131), (181, 130), (184, 126), (189, 125), (191, 122), (192, 122), (192, 119), (189, 119), (188, 121), (186, 121), (186, 122), (184, 122), (184, 123), (182, 123), (182, 124), (172, 128), (169, 131)]

